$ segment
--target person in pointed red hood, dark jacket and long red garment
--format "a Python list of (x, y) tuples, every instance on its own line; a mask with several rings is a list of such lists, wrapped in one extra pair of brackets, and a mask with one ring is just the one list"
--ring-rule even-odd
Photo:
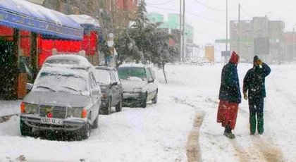
[(235, 138), (231, 130), (235, 129), (238, 105), (242, 100), (237, 70), (239, 58), (240, 56), (233, 51), (230, 60), (223, 66), (219, 90), (217, 123), (225, 127), (224, 135), (230, 139)]

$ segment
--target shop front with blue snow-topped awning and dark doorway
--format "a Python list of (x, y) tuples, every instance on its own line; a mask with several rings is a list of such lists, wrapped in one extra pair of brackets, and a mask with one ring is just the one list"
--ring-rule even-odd
[[(41, 39), (82, 44), (83, 30), (79, 23), (63, 13), (25, 0), (2, 0), (0, 99), (25, 96), (25, 83), (33, 82), (38, 72)], [(49, 44), (47, 49), (50, 48)]]

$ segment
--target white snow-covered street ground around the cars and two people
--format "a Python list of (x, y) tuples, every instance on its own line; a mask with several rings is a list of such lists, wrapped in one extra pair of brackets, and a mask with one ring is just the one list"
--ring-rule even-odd
[[(26, 161), (296, 161), (296, 65), (271, 66), (264, 135), (249, 135), (248, 106), (242, 99), (235, 139), (223, 136), (223, 127), (216, 123), (222, 67), (166, 65), (167, 84), (162, 70), (156, 70), (157, 104), (101, 115), (99, 128), (84, 141), (21, 137), (19, 118), (13, 116), (0, 123), (0, 161), (17, 161), (20, 155)], [(238, 65), (241, 88), (249, 68), (251, 64)], [(0, 104), (0, 115), (19, 112), (20, 100)], [(195, 143), (191, 135), (198, 129), (198, 153), (187, 157), (187, 144)]]

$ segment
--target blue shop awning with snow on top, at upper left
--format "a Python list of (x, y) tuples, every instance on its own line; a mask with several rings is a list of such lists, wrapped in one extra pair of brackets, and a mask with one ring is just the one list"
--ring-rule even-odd
[(0, 25), (63, 39), (83, 39), (83, 28), (78, 22), (30, 1), (1, 0), (0, 15)]

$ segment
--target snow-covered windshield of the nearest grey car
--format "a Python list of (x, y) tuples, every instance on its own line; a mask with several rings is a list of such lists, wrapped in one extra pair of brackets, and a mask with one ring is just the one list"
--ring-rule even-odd
[(35, 80), (32, 90), (85, 94), (88, 92), (87, 78), (79, 73), (44, 71)]

